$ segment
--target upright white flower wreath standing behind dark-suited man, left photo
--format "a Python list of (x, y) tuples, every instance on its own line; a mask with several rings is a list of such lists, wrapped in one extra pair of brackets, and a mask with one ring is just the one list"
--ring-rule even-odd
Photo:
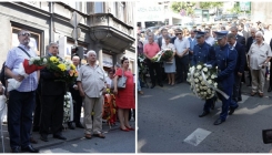
[(73, 121), (73, 100), (70, 92), (64, 95), (63, 123)]

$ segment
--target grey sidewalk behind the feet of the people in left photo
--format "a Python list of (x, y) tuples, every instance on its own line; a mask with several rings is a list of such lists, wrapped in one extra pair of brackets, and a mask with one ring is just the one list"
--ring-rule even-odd
[[(134, 121), (130, 121), (130, 122), (132, 122), (131, 125), (135, 126), (134, 125)], [(11, 148), (10, 148), (10, 145), (9, 145), (10, 142), (9, 142), (9, 133), (8, 133), (7, 124), (2, 125), (2, 130), (3, 130), (3, 140), (4, 140), (4, 152), (6, 153), (10, 153)], [(110, 133), (111, 131), (115, 131), (115, 130), (119, 130), (119, 122), (117, 122), (117, 124), (114, 126), (111, 126), (111, 127), (108, 125), (108, 123), (103, 123), (102, 124), (102, 131), (103, 131), (105, 136), (107, 136), (108, 133)], [(62, 131), (62, 135), (64, 137), (67, 137), (67, 141), (53, 138), (52, 137), (53, 135), (49, 134), (48, 135), (48, 140), (49, 141), (48, 142), (43, 142), (43, 141), (40, 140), (39, 132), (33, 132), (32, 133), (32, 137), (36, 141), (38, 141), (38, 144), (32, 144), (32, 146), (34, 148), (46, 148), (46, 147), (59, 145), (59, 144), (62, 144), (62, 143), (67, 143), (67, 142), (84, 138), (84, 128), (78, 128), (78, 127), (75, 127), (75, 130), (67, 128), (67, 130)], [(3, 149), (2, 149), (2, 143), (1, 143), (0, 152), (2, 152), (2, 151)]]

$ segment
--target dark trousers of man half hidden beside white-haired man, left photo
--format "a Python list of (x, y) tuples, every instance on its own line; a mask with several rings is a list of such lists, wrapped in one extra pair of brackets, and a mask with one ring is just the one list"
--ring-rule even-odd
[(71, 91), (71, 94), (72, 99), (75, 101), (75, 103), (73, 103), (73, 122), (80, 123), (82, 97), (80, 96), (79, 91)]

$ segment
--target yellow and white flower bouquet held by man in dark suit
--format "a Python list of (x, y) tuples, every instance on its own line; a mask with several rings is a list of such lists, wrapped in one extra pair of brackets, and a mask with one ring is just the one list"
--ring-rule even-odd
[(67, 83), (72, 83), (78, 78), (78, 71), (71, 61), (60, 60), (57, 56), (51, 56), (48, 60), (48, 70), (60, 75), (60, 80)]

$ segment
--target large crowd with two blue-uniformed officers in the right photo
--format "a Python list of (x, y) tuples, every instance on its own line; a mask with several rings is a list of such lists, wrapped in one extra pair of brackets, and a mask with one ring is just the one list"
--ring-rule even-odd
[[(243, 19), (202, 24), (190, 30), (164, 27), (159, 31), (153, 33), (147, 29), (145, 33), (138, 33), (138, 54), (145, 59), (151, 89), (157, 83), (163, 86), (164, 79), (168, 79), (169, 85), (187, 82), (189, 68), (198, 63), (218, 66), (216, 82), (221, 91), (230, 97), (218, 95), (223, 105), (214, 125), (223, 123), (239, 107), (238, 102), (242, 101), (242, 83), (246, 82), (246, 86), (251, 86), (252, 96), (259, 94), (263, 97), (265, 79), (272, 73), (272, 24)], [(173, 51), (172, 58), (164, 62), (153, 62), (152, 58), (164, 49)], [(268, 92), (272, 89), (271, 78), (270, 75)], [(214, 96), (205, 101), (200, 117), (210, 113), (215, 100)]]

